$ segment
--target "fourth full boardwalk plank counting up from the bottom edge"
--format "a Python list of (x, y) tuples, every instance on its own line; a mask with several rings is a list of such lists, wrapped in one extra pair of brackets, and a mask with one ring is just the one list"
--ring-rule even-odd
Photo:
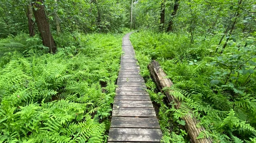
[(115, 100), (113, 107), (153, 108), (153, 105), (151, 101), (145, 100)]

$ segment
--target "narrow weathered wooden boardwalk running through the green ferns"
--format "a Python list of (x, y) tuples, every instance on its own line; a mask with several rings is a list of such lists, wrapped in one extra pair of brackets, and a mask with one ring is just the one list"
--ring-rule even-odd
[(145, 91), (145, 81), (129, 40), (122, 41), (121, 57), (108, 143), (160, 143), (162, 132), (154, 107)]

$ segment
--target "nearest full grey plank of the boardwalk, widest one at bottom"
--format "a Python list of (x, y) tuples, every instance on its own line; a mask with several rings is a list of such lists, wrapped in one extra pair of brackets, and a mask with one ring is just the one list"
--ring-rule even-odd
[(108, 135), (108, 141), (159, 142), (162, 131), (144, 128), (110, 128)]

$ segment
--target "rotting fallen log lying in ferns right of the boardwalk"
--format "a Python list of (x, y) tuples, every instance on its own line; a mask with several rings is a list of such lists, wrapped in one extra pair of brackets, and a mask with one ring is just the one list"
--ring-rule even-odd
[[(164, 87), (171, 87), (173, 85), (172, 81), (170, 79), (165, 78), (167, 75), (163, 71), (163, 69), (160, 67), (160, 64), (156, 62), (155, 60), (151, 61), (150, 64), (148, 64), (148, 70), (150, 71), (151, 77), (157, 84), (157, 88), (167, 97), (167, 100), (169, 103), (174, 102), (174, 107), (176, 109), (180, 108), (180, 101), (175, 98), (171, 92), (163, 91), (162, 89)], [(189, 115), (186, 115), (182, 118), (186, 122), (186, 125), (184, 126), (186, 129), (186, 132), (188, 132), (188, 135), (190, 137), (190, 141), (192, 143), (212, 143), (211, 138), (202, 138), (202, 139), (196, 139), (200, 132), (205, 131), (204, 127), (201, 126), (200, 128), (197, 128), (196, 125), (199, 121), (195, 119), (195, 117), (192, 116), (192, 111)]]

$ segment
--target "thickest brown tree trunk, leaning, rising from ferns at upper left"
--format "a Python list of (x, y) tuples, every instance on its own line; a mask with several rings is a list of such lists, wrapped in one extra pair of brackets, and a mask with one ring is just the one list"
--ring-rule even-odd
[(36, 2), (33, 3), (33, 6), (35, 7), (33, 8), (33, 12), (35, 15), (35, 22), (38, 26), (38, 31), (40, 32), (43, 40), (43, 45), (49, 47), (50, 53), (56, 53), (56, 44), (50, 31), (49, 20), (45, 14), (44, 5), (39, 4), (43, 3), (43, 0), (36, 0)]

